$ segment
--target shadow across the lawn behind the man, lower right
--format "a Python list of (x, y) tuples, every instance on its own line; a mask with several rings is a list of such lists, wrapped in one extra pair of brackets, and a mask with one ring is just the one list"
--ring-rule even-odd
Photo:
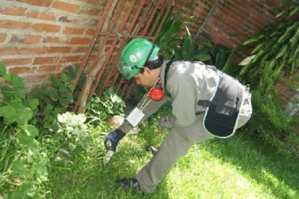
[(241, 131), (232, 138), (208, 142), (198, 147), (234, 165), (243, 176), (268, 188), (277, 198), (299, 199), (298, 158), (277, 154), (274, 148)]

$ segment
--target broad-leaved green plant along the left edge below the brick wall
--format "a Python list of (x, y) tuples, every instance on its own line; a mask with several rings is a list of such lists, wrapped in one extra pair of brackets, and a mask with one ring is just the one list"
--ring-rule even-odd
[(0, 187), (7, 187), (4, 198), (27, 199), (36, 187), (47, 181), (46, 159), (40, 153), (38, 129), (29, 123), (37, 109), (37, 99), (26, 99), (23, 80), (16, 74), (7, 74), (0, 62), (0, 77), (5, 85), (0, 103)]

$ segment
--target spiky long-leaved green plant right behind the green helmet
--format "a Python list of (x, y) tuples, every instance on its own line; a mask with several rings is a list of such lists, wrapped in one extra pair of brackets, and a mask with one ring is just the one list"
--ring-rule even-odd
[(190, 25), (188, 20), (194, 16), (185, 16), (180, 18), (180, 14), (176, 13), (173, 16), (174, 6), (171, 7), (163, 25), (155, 40), (160, 48), (160, 53), (164, 55), (166, 60), (171, 60), (174, 54), (174, 48), (181, 40), (182, 32)]

